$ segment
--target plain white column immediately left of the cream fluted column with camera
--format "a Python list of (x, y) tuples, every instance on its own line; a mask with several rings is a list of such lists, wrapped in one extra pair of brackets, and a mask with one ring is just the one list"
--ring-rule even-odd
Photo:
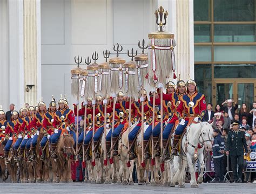
[(9, 22), (9, 103), (18, 110), (24, 103), (23, 1), (8, 0)]

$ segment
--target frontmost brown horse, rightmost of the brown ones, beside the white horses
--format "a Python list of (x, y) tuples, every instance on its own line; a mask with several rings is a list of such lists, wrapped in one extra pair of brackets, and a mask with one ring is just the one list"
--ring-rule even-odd
[(71, 156), (75, 155), (73, 148), (75, 141), (72, 135), (63, 134), (57, 145), (59, 182), (72, 182), (71, 179)]

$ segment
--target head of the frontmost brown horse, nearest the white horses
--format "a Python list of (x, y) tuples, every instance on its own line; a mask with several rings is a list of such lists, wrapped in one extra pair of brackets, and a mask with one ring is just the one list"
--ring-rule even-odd
[(66, 156), (69, 158), (71, 155), (75, 154), (75, 150), (73, 148), (73, 144), (75, 144), (75, 141), (73, 140), (72, 135), (69, 134), (63, 134), (62, 139), (60, 142), (62, 144), (62, 151)]

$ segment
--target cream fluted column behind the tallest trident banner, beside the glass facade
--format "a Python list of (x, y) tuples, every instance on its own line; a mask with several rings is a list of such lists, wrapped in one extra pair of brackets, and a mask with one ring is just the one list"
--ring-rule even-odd
[[(194, 78), (194, 15), (193, 0), (158, 0), (158, 7), (163, 5), (169, 12), (166, 30), (174, 33), (176, 75), (187, 81), (188, 74)], [(178, 81), (178, 79), (177, 79)]]

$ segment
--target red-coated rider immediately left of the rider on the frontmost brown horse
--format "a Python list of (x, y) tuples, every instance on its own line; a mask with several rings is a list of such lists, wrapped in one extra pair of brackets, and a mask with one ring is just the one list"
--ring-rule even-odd
[(56, 101), (55, 99), (53, 99), (49, 104), (49, 108), (48, 108), (48, 112), (46, 112), (44, 114), (44, 119), (43, 119), (43, 133), (44, 133), (44, 137), (42, 138), (41, 142), (40, 142), (40, 147), (42, 150), (42, 155), (41, 155), (41, 160), (45, 160), (45, 145), (48, 142), (51, 134), (53, 133), (53, 126), (52, 126), (52, 122), (54, 120), (55, 117), (55, 113), (56, 113)]

